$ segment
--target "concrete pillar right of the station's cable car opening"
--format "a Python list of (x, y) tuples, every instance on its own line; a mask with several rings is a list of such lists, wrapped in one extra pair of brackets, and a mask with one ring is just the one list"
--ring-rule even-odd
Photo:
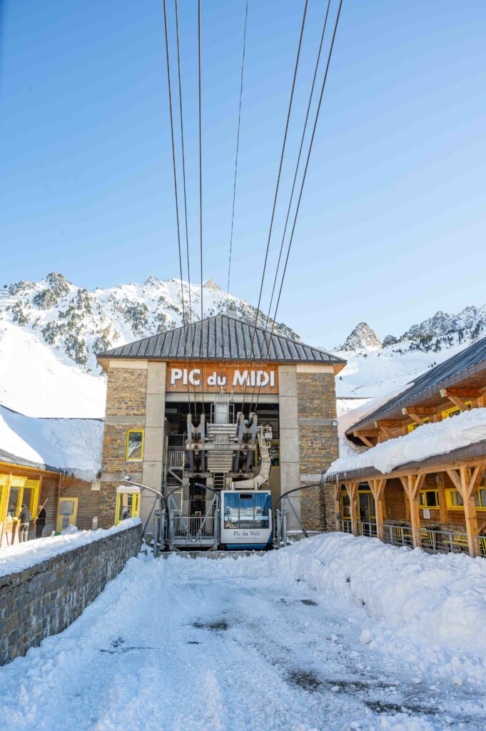
[[(299, 423), (297, 417), (297, 366), (278, 366), (278, 412), (280, 425), (280, 494), (300, 487)], [(300, 494), (292, 496), (300, 515)], [(289, 514), (288, 528), (297, 528)]]

